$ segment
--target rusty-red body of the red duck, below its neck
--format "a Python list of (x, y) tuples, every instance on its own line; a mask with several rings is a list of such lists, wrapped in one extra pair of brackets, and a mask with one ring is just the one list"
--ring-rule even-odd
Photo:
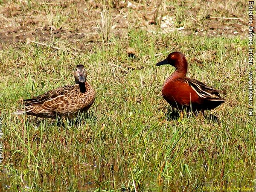
[(211, 110), (225, 101), (219, 96), (219, 90), (189, 78), (178, 78), (166, 82), (162, 95), (172, 107), (189, 108), (192, 111)]

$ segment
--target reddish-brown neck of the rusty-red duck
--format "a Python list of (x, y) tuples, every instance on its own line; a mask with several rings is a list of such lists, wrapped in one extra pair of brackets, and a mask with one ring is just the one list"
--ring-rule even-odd
[(175, 66), (175, 72), (166, 79), (165, 84), (175, 79), (186, 77), (186, 73), (188, 71), (188, 63), (186, 58), (180, 58)]

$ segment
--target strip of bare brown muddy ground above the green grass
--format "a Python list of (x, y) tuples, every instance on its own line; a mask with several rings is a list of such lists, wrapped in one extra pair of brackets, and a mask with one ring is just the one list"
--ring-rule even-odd
[[(7, 1), (0, 4), (0, 49), (36, 41), (72, 43), (90, 50), (102, 43), (102, 13), (111, 15), (110, 33), (126, 39), (128, 30), (246, 38), (246, 2), (233, 1)], [(243, 11), (244, 9), (244, 11)], [(103, 29), (104, 30), (104, 29)]]

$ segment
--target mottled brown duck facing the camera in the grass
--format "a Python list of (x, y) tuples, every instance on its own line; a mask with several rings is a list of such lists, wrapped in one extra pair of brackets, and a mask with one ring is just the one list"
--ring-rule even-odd
[(93, 104), (95, 92), (86, 81), (87, 71), (84, 65), (77, 65), (74, 71), (75, 85), (65, 85), (50, 90), (32, 99), (23, 100), (25, 108), (13, 114), (29, 114), (55, 119), (56, 116), (75, 117), (79, 112), (87, 111)]

